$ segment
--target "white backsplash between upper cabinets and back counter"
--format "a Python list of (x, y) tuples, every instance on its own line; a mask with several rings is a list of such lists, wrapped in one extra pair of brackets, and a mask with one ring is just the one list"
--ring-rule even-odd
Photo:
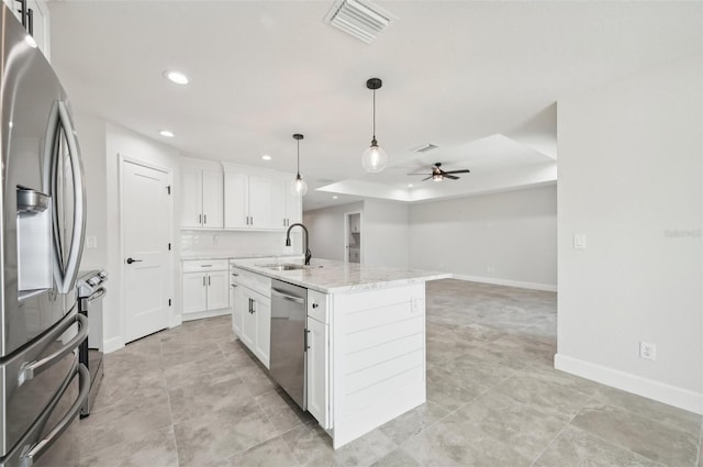
[(180, 231), (181, 256), (252, 256), (302, 254), (301, 232), (291, 232), (292, 247), (284, 232)]

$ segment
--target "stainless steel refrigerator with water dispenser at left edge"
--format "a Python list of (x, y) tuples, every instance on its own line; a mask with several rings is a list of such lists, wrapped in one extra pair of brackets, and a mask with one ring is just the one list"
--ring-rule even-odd
[(90, 388), (75, 290), (83, 173), (58, 78), (4, 3), (0, 21), (0, 467), (69, 467)]

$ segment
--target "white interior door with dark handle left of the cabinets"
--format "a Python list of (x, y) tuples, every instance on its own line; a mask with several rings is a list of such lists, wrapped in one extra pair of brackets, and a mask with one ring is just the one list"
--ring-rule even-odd
[(123, 160), (125, 343), (168, 327), (171, 290), (168, 173)]

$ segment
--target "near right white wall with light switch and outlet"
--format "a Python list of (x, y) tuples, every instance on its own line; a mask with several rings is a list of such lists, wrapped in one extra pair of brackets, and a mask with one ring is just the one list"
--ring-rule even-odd
[[(559, 105), (557, 368), (703, 413), (701, 56)], [(587, 248), (573, 249), (574, 234)], [(657, 345), (655, 362), (639, 342)]]

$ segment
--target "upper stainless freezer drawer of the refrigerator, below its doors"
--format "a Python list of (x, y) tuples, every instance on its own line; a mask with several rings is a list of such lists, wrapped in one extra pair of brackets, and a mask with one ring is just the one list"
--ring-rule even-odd
[(87, 333), (87, 320), (74, 311), (42, 338), (0, 364), (0, 457), (32, 429), (76, 373), (77, 348)]

